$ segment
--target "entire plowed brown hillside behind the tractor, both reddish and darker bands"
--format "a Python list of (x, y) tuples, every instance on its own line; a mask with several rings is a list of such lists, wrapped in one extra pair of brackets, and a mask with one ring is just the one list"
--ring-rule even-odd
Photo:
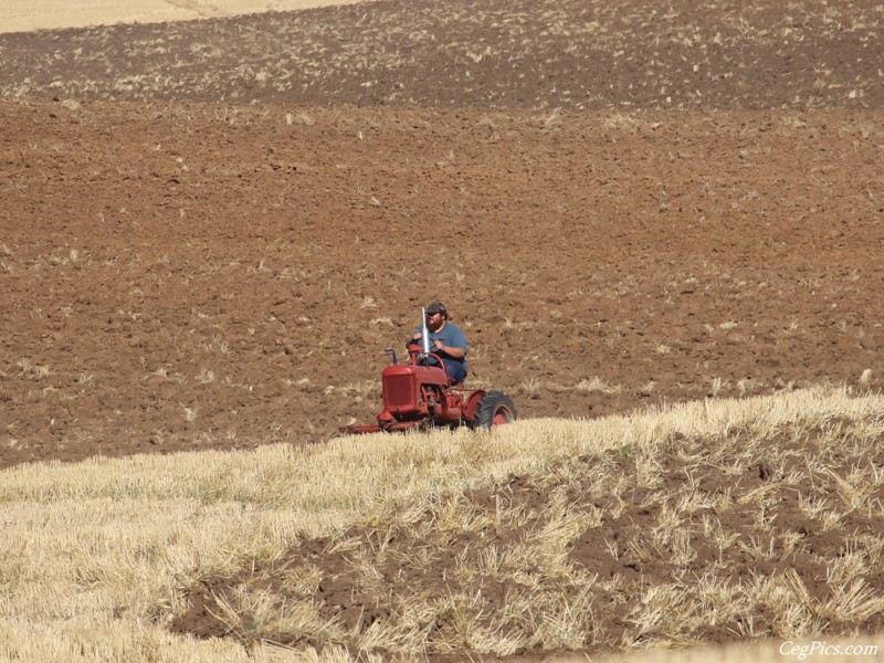
[(880, 388), (876, 6), (529, 4), (1, 35), (0, 466), (322, 441), (435, 297), (523, 417)]

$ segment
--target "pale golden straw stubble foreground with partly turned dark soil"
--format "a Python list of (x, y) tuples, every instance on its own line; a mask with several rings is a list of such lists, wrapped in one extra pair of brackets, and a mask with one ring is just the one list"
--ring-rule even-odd
[[(810, 390), (486, 434), (18, 466), (0, 488), (0, 657), (244, 660), (274, 642), (506, 655), (862, 631), (884, 608), (882, 412), (880, 397)], [(796, 508), (778, 511), (785, 498)], [(714, 546), (717, 562), (692, 566)], [(782, 572), (790, 550), (828, 564), (833, 589)], [(200, 582), (230, 638), (167, 630), (187, 630)], [(361, 614), (344, 614), (357, 594)]]

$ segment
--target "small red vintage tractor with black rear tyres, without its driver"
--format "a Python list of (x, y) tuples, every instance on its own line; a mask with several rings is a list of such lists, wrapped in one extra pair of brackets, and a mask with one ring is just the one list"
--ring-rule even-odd
[(466, 390), (453, 383), (441, 368), (442, 359), (425, 346), (423, 349), (409, 347), (410, 364), (399, 364), (393, 349), (388, 349), (387, 354), (392, 357), (392, 364), (381, 373), (383, 410), (378, 413), (378, 423), (348, 425), (340, 429), (343, 433), (460, 425), (490, 429), (516, 420), (512, 398), (503, 391)]

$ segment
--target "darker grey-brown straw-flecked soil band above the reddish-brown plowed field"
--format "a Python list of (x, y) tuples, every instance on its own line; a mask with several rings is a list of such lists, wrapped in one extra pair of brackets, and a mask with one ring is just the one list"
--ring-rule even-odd
[(383, 0), (0, 35), (0, 93), (238, 104), (880, 108), (880, 2)]

